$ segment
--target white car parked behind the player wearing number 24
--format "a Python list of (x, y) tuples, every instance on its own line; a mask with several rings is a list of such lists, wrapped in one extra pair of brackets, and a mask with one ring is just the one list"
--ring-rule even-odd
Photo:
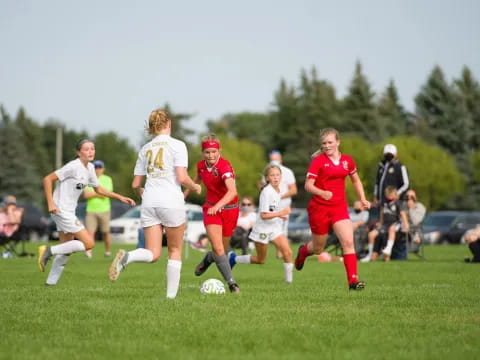
[[(188, 203), (185, 204), (185, 207), (188, 220), (184, 240), (195, 243), (199, 238), (206, 235), (202, 207)], [(110, 221), (112, 243), (137, 244), (140, 227), (140, 206), (135, 206), (122, 216)]]

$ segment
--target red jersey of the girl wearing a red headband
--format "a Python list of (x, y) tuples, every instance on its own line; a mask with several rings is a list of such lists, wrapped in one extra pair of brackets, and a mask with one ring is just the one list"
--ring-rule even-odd
[[(217, 163), (211, 168), (207, 167), (205, 160), (199, 161), (197, 164), (197, 174), (207, 188), (207, 197), (205, 200), (210, 205), (215, 205), (227, 193), (228, 190), (225, 185), (225, 180), (235, 179), (232, 165), (221, 156), (218, 158)], [(235, 196), (227, 205), (236, 203), (238, 203), (238, 196)]]

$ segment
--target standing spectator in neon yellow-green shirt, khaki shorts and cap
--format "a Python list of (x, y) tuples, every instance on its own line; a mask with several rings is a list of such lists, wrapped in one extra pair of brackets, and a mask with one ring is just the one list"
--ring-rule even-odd
[[(113, 191), (113, 181), (108, 175), (105, 175), (105, 164), (102, 160), (93, 162), (95, 174), (97, 174), (98, 183), (108, 191)], [(85, 216), (85, 227), (88, 232), (95, 237), (95, 232), (100, 229), (105, 246), (105, 256), (111, 256), (111, 238), (110, 238), (110, 217), (111, 203), (110, 198), (97, 194), (92, 187), (87, 186), (83, 191), (83, 196), (87, 199), (87, 213)], [(88, 257), (92, 256), (92, 250), (85, 251)]]

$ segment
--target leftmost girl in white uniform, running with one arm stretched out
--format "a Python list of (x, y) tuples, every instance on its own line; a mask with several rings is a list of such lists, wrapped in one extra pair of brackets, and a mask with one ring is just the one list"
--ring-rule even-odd
[[(95, 245), (94, 238), (75, 215), (78, 198), (85, 186), (93, 187), (99, 195), (135, 205), (132, 199), (109, 191), (98, 184), (97, 175), (91, 163), (95, 158), (95, 145), (92, 141), (80, 140), (76, 146), (76, 153), (75, 160), (43, 179), (48, 211), (57, 225), (61, 242), (59, 245), (42, 245), (38, 248), (38, 266), (42, 272), (45, 271), (50, 257), (55, 255), (46, 285), (57, 284), (70, 254), (92, 249)], [(56, 180), (58, 184), (52, 195), (53, 182)]]

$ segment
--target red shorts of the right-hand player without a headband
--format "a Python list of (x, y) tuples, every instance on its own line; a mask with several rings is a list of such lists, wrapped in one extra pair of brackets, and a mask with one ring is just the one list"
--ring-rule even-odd
[(335, 205), (320, 205), (310, 201), (307, 211), (308, 223), (315, 235), (328, 234), (333, 224), (340, 220), (350, 219), (346, 202)]

